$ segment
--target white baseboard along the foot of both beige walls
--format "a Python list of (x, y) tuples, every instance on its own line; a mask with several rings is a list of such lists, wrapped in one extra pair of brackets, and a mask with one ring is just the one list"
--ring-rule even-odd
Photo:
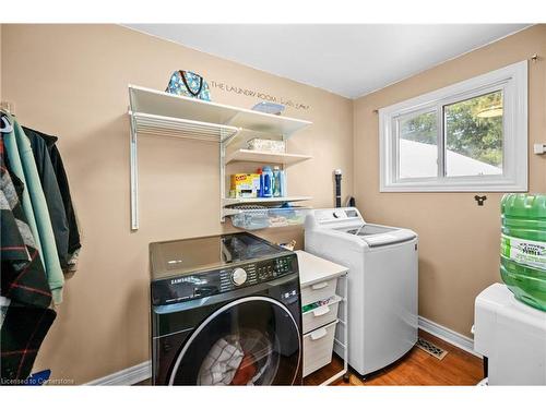
[[(482, 358), (479, 353), (474, 351), (474, 341), (471, 338), (455, 333), (452, 329), (446, 328), (444, 326), (423, 316), (419, 316), (418, 325), (420, 329), (434, 335), (435, 337), (443, 339), (446, 342), (472, 353), (473, 356)], [(86, 385), (129, 386), (149, 380), (150, 377), (152, 377), (152, 362), (145, 361), (98, 380), (91, 381), (86, 383)]]

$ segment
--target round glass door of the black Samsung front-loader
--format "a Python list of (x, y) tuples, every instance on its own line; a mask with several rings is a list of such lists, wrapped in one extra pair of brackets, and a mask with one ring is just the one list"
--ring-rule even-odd
[(266, 297), (223, 305), (181, 348), (169, 385), (293, 385), (301, 339), (290, 312)]

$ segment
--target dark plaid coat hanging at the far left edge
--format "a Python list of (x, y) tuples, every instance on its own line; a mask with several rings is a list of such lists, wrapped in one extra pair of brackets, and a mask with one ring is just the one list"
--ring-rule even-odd
[(51, 291), (21, 206), (23, 189), (9, 169), (0, 136), (0, 293), (11, 301), (0, 329), (0, 384), (7, 385), (28, 377), (56, 317), (48, 309)]

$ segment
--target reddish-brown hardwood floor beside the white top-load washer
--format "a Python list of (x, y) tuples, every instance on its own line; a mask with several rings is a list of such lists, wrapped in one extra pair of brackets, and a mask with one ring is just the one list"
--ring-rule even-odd
[[(414, 347), (396, 363), (378, 371), (372, 376), (361, 380), (351, 371), (349, 382), (335, 381), (335, 386), (403, 386), (403, 385), (476, 385), (482, 378), (482, 360), (452, 345), (419, 330), (419, 336), (448, 351), (440, 361), (427, 352)], [(342, 360), (334, 357), (332, 363), (313, 372), (304, 380), (305, 385), (319, 385), (342, 369)]]

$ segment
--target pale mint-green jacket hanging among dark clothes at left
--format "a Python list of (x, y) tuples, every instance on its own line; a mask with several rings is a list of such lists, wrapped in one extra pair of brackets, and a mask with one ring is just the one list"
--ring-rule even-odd
[[(13, 169), (15, 176), (23, 180), (25, 184), (25, 191), (28, 191), (31, 199), (31, 205), (34, 213), (34, 219), (37, 227), (37, 236), (35, 239), (39, 238), (39, 243), (41, 246), (41, 256), (46, 267), (47, 281), (49, 284), (49, 289), (51, 290), (54, 303), (60, 304), (62, 302), (62, 287), (64, 286), (64, 275), (62, 274), (61, 265), (59, 262), (59, 256), (57, 252), (57, 245), (55, 242), (54, 229), (51, 227), (51, 219), (49, 216), (49, 210), (47, 207), (46, 197), (41, 189), (41, 182), (39, 180), (38, 170), (36, 168), (36, 161), (34, 159), (33, 151), (31, 147), (31, 142), (25, 135), (23, 129), (19, 122), (12, 119), (13, 134), (16, 141), (16, 147), (19, 151), (19, 157), (21, 158), (21, 164), (23, 167), (24, 178), (17, 175), (16, 169)], [(10, 134), (11, 136), (11, 134)], [(11, 140), (12, 137), (7, 137)], [(13, 144), (5, 144), (10, 164), (12, 164), (12, 154), (10, 154)], [(23, 204), (25, 197), (23, 196)], [(25, 212), (26, 214), (26, 212)]]

